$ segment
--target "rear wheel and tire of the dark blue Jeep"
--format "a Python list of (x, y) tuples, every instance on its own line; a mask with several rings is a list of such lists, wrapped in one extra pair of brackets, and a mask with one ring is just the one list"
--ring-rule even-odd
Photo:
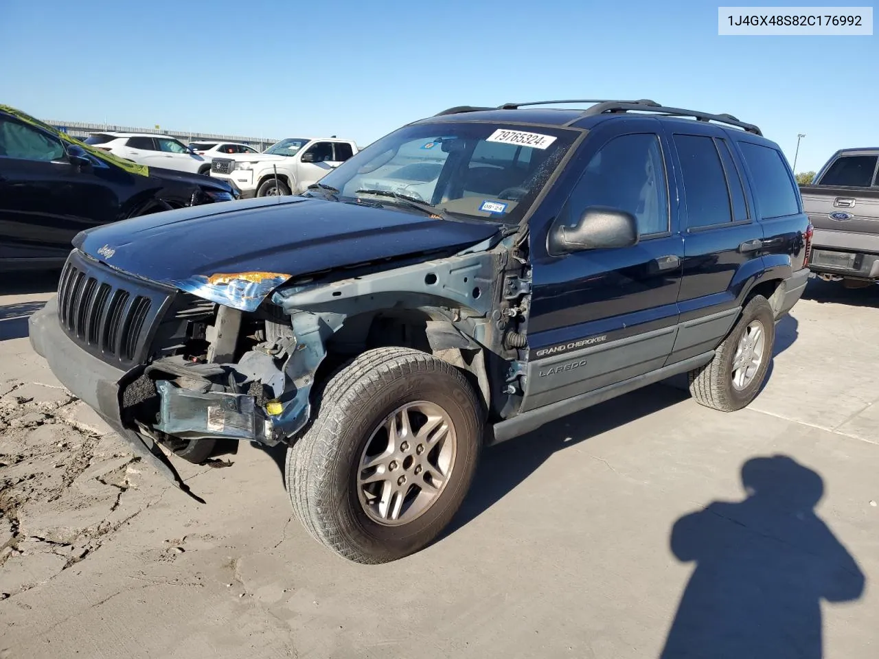
[(699, 404), (723, 412), (746, 407), (763, 387), (774, 344), (773, 309), (765, 297), (755, 295), (714, 358), (690, 371), (690, 394)]

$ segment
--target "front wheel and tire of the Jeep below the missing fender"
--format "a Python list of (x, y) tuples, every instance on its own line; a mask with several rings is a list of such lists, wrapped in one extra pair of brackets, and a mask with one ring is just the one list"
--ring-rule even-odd
[(287, 449), (294, 514), (350, 561), (417, 552), (460, 508), (482, 425), (454, 366), (408, 348), (367, 351), (331, 378), (314, 424)]

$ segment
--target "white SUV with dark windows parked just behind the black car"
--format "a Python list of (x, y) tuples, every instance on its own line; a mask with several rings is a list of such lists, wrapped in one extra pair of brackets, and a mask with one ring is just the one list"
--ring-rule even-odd
[(211, 156), (199, 156), (169, 135), (95, 133), (87, 137), (85, 143), (149, 167), (210, 175)]

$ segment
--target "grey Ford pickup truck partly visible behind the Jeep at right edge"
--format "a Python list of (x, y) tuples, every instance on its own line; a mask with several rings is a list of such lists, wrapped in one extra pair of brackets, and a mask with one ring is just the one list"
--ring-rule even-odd
[(815, 228), (810, 270), (846, 286), (879, 281), (879, 148), (837, 151), (800, 193)]

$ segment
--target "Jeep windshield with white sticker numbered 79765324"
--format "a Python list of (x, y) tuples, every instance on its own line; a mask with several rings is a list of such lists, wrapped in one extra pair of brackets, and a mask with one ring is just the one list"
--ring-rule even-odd
[(565, 128), (490, 123), (403, 127), (320, 185), (338, 190), (341, 200), (402, 208), (398, 202), (410, 199), (441, 213), (518, 222), (576, 136)]

